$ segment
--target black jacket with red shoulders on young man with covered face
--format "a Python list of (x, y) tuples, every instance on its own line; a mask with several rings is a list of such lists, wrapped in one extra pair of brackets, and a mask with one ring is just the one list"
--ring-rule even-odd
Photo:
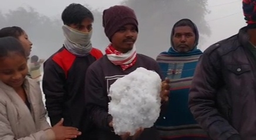
[(64, 118), (64, 125), (85, 131), (85, 74), (90, 64), (102, 56), (100, 50), (93, 48), (86, 57), (76, 57), (62, 47), (46, 60), (43, 93), (52, 125)]

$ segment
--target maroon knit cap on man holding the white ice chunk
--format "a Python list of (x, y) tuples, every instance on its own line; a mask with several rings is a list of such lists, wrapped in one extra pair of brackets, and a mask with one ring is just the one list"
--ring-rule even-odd
[(112, 6), (103, 11), (103, 27), (105, 34), (111, 42), (111, 38), (120, 27), (126, 24), (134, 24), (138, 31), (137, 17), (134, 10), (123, 5)]

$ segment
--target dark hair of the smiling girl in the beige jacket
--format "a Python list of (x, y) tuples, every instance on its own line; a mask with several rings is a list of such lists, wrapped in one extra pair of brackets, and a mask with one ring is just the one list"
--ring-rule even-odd
[(21, 42), (14, 37), (0, 38), (0, 58), (7, 57), (10, 52), (16, 52), (26, 58), (26, 53)]

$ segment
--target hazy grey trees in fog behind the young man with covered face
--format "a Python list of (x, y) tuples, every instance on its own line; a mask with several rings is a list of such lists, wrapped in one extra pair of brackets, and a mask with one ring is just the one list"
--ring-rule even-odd
[[(90, 8), (86, 5), (86, 7)], [(102, 15), (98, 10), (93, 10), (95, 23), (93, 25), (94, 47), (103, 50), (106, 47), (106, 37), (103, 34)], [(5, 15), (0, 12), (0, 29), (6, 26), (19, 26), (28, 33), (30, 40), (33, 43), (32, 54), (39, 57), (48, 58), (62, 47), (64, 36), (62, 32), (62, 20), (59, 15), (56, 19), (50, 19), (36, 12), (33, 8), (17, 8), (9, 10)]]

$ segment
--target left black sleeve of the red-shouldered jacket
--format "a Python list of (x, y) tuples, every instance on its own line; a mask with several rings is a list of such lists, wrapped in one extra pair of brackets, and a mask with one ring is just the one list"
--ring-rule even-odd
[(65, 73), (53, 60), (44, 63), (43, 72), (43, 93), (50, 124), (53, 126), (63, 117)]

